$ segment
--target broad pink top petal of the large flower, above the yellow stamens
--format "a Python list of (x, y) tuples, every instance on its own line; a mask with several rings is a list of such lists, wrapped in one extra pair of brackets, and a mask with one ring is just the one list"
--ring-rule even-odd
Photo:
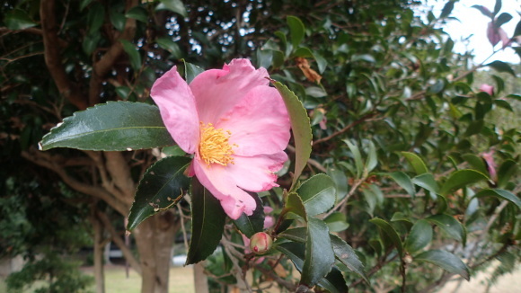
[(190, 83), (196, 97), (199, 119), (205, 123), (216, 123), (224, 113), (230, 111), (252, 87), (268, 85), (268, 72), (255, 69), (248, 59), (234, 59), (223, 69), (208, 70)]

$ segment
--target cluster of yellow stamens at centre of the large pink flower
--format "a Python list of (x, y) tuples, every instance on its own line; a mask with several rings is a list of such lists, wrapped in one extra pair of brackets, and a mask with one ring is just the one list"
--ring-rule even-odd
[[(228, 142), (232, 135), (230, 131), (216, 129), (212, 123), (200, 122), (201, 142), (199, 155), (206, 164), (234, 164), (234, 151)], [(237, 147), (237, 145), (233, 145)]]

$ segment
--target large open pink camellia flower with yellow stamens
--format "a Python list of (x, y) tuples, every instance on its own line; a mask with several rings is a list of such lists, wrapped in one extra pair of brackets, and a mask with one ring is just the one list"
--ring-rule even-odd
[(287, 109), (267, 77), (248, 59), (207, 70), (190, 84), (173, 67), (150, 94), (173, 140), (194, 155), (189, 175), (234, 219), (252, 215), (256, 203), (246, 191), (278, 186), (275, 172), (287, 160)]

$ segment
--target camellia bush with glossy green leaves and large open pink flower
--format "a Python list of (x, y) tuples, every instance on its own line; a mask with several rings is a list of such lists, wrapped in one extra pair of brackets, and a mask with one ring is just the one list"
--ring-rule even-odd
[[(4, 8), (3, 38), (41, 35), (52, 77), (23, 88), (22, 61), (4, 64), (3, 111), (25, 123), (4, 131), (128, 219), (142, 292), (167, 290), (176, 233), (206, 290), (430, 292), (518, 264), (520, 95), (496, 72), (519, 73), (453, 51), (457, 1), (423, 18), (400, 1), (112, 2)], [(472, 10), (521, 56), (500, 0)], [(42, 137), (44, 119), (60, 122)]]

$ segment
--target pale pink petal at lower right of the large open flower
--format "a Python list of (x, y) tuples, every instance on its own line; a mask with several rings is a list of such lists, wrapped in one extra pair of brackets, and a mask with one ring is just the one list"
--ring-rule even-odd
[(278, 186), (277, 172), (287, 161), (283, 151), (270, 155), (234, 156), (234, 164), (228, 164), (225, 171), (228, 180), (246, 191), (269, 191)]

